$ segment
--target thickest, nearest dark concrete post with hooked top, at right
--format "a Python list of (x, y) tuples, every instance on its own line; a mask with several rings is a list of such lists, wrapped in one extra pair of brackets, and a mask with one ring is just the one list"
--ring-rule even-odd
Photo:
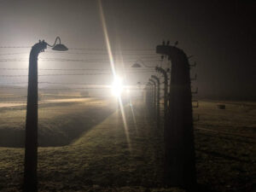
[(170, 89), (170, 122), (165, 131), (166, 184), (195, 186), (195, 146), (193, 135), (189, 61), (182, 49), (158, 45), (156, 53), (172, 61)]

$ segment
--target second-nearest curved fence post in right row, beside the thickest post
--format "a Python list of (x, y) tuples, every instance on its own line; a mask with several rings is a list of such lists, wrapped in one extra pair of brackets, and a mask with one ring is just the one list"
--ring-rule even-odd
[(167, 76), (167, 73), (166, 73), (166, 70), (164, 70), (163, 68), (161, 67), (155, 67), (155, 70), (159, 73), (162, 73), (163, 76), (164, 76), (164, 84), (165, 84), (165, 87), (164, 87), (164, 132), (166, 130), (166, 127), (167, 127), (167, 122), (168, 122), (168, 106), (167, 106), (167, 102), (168, 102), (168, 76)]

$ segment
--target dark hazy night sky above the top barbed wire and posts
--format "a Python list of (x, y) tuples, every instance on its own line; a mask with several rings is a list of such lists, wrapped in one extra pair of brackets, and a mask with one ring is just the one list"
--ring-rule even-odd
[[(178, 41), (179, 48), (194, 55), (191, 62), (198, 64), (191, 75), (198, 74), (195, 85), (201, 96), (255, 99), (253, 2), (103, 0), (102, 5), (113, 49), (155, 49), (163, 39)], [(38, 39), (51, 43), (60, 36), (69, 48), (106, 48), (96, 0), (1, 0), (0, 23), (0, 46), (31, 46)], [(147, 79), (132, 77), (133, 83)]]

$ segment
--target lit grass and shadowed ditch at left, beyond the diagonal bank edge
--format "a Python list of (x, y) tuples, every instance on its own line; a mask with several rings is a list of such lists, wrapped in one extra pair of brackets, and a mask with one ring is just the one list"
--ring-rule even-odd
[[(3, 102), (4, 107), (0, 108), (0, 146), (24, 147), (25, 104), (21, 101)], [(39, 146), (71, 143), (82, 132), (113, 113), (114, 107), (113, 101), (96, 98), (55, 98), (39, 102)]]

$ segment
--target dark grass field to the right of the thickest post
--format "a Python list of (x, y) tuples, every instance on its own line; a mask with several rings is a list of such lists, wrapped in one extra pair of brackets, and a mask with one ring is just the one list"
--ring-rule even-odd
[[(217, 191), (256, 190), (256, 103), (200, 102), (195, 110), (198, 182)], [(210, 131), (209, 131), (210, 130)]]

